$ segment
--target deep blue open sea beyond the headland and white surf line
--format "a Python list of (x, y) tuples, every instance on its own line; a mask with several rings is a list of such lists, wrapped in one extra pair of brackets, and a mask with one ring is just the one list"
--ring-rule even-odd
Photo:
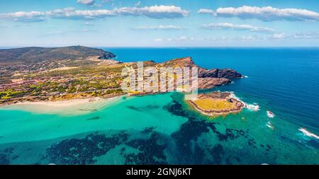
[[(223, 90), (267, 101), (279, 116), (319, 132), (319, 48), (103, 48), (123, 62), (192, 57), (198, 66), (248, 76)], [(254, 101), (255, 100), (255, 101)]]

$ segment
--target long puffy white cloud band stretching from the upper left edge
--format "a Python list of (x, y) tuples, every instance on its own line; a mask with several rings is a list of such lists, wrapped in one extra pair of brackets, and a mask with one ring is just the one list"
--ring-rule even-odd
[(1, 13), (0, 18), (12, 21), (45, 21), (45, 18), (96, 19), (111, 16), (147, 16), (149, 18), (182, 18), (189, 12), (177, 6), (145, 6), (114, 8), (113, 10), (77, 10), (75, 8), (55, 9), (53, 11), (32, 11)]

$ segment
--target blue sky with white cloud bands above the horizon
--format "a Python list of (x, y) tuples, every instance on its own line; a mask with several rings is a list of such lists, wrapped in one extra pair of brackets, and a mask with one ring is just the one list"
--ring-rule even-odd
[(0, 46), (318, 47), (319, 1), (0, 1)]

